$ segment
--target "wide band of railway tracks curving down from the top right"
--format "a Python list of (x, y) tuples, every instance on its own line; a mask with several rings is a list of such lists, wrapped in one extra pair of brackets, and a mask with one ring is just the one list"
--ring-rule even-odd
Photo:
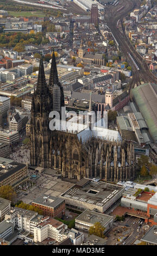
[[(121, 7), (124, 5), (125, 1), (121, 2)], [(123, 53), (123, 55), (127, 58), (127, 62), (130, 64), (132, 68), (133, 73), (133, 79), (130, 82), (130, 88), (129, 88), (129, 94), (130, 98), (132, 98), (131, 95), (131, 89), (135, 86), (139, 86), (141, 82), (147, 83), (147, 82), (155, 82), (157, 83), (157, 77), (155, 77), (152, 72), (149, 70), (149, 67), (145, 60), (140, 56), (140, 54), (135, 50), (133, 45), (131, 45), (130, 40), (128, 39), (127, 35), (125, 34), (125, 30), (122, 24), (123, 17), (126, 16), (127, 13), (135, 9), (136, 7), (139, 7), (140, 2), (135, 0), (128, 0), (127, 3), (125, 2), (124, 8), (121, 8), (119, 12), (117, 12), (117, 9), (120, 9), (120, 6), (116, 8), (108, 8), (108, 11), (110, 12), (110, 15), (112, 16), (112, 19), (109, 19), (108, 16), (105, 17), (105, 21), (108, 25), (108, 27), (111, 29), (112, 34), (115, 36), (120, 50)], [(122, 32), (117, 28), (117, 22), (121, 22), (122, 25)], [(137, 67), (133, 60), (129, 58), (128, 53), (133, 57), (135, 63), (139, 67), (139, 70), (137, 70)]]

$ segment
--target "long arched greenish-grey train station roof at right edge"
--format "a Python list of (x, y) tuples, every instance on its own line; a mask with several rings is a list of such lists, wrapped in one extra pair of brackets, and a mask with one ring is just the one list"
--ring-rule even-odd
[(133, 89), (133, 97), (137, 106), (140, 109), (143, 118), (145, 118), (146, 124), (150, 135), (157, 142), (157, 84), (145, 83), (141, 84)]

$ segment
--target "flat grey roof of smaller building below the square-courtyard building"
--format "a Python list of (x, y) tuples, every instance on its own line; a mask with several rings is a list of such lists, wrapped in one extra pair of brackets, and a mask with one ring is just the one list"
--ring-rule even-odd
[(95, 224), (96, 222), (101, 222), (102, 225), (105, 225), (113, 219), (112, 216), (106, 214), (100, 214), (99, 212), (85, 210), (76, 218), (76, 222), (86, 222), (90, 224)]

